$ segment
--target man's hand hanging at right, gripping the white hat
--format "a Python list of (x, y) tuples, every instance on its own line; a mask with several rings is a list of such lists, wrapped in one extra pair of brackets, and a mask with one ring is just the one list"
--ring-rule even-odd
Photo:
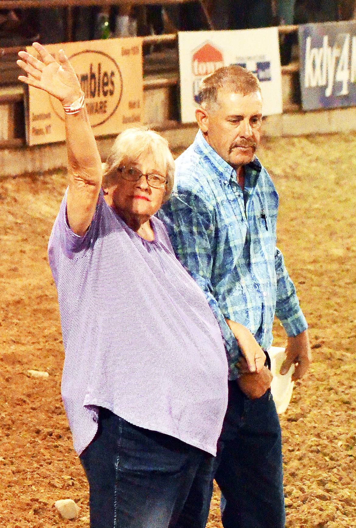
[(286, 374), (291, 365), (294, 363), (295, 370), (292, 375), (292, 380), (299, 380), (309, 369), (309, 365), (312, 361), (312, 353), (307, 330), (301, 332), (295, 337), (288, 337), (285, 352), (287, 357), (281, 366), (280, 373)]

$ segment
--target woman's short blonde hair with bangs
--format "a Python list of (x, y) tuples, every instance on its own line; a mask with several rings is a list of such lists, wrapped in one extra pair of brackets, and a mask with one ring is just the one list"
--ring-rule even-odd
[(103, 163), (103, 188), (115, 185), (117, 169), (125, 163), (135, 163), (150, 156), (167, 176), (163, 203), (169, 199), (174, 185), (175, 162), (169, 150), (168, 141), (154, 130), (146, 127), (127, 128), (116, 138), (108, 159)]

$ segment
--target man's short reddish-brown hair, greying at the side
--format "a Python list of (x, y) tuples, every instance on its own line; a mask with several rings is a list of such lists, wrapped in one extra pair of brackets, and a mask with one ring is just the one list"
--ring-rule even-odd
[(242, 93), (246, 96), (249, 93), (261, 93), (261, 85), (252, 71), (231, 64), (218, 68), (201, 80), (197, 98), (201, 108), (214, 107), (219, 92)]

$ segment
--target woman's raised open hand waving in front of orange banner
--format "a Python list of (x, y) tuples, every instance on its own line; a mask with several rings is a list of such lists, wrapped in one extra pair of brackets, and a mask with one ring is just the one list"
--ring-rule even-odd
[(59, 51), (57, 62), (38, 42), (34, 42), (33, 47), (39, 53), (40, 59), (36, 59), (26, 51), (18, 52), (20, 59), (17, 60), (17, 64), (27, 73), (27, 76), (21, 75), (18, 79), (50, 93), (59, 99), (62, 105), (71, 105), (78, 100), (83, 92), (64, 51)]

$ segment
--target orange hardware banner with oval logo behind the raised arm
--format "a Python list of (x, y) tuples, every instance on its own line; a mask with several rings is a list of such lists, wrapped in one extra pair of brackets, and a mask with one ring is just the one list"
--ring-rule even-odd
[[(95, 136), (118, 134), (142, 122), (142, 39), (132, 37), (46, 46), (53, 56), (61, 48), (80, 80)], [(32, 47), (27, 51), (36, 55)], [(30, 86), (27, 144), (55, 143), (64, 139), (64, 112), (60, 101)]]

